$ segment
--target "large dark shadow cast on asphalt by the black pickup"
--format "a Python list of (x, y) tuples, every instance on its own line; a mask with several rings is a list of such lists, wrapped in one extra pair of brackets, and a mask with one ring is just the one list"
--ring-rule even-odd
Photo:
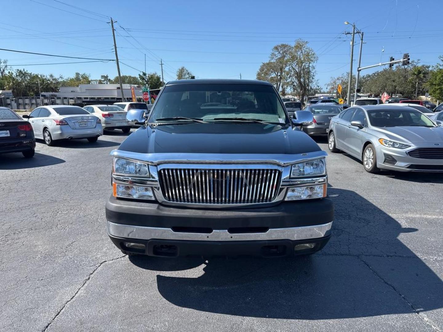
[(332, 238), (310, 257), (130, 259), (154, 271), (204, 264), (197, 278), (159, 273), (157, 287), (170, 303), (208, 313), (320, 320), (443, 308), (442, 280), (397, 239), (418, 230), (402, 228), (353, 191), (329, 193), (336, 210)]

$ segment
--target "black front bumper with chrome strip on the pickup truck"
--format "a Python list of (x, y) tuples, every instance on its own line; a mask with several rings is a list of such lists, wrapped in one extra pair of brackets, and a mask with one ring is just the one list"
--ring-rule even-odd
[[(113, 243), (123, 251), (156, 256), (281, 256), (318, 251), (329, 239), (333, 214), (333, 203), (327, 198), (217, 211), (114, 197), (106, 204)], [(145, 249), (133, 251), (124, 242), (142, 243)], [(313, 244), (294, 250), (303, 243)], [(175, 248), (172, 254), (158, 249), (171, 246)]]

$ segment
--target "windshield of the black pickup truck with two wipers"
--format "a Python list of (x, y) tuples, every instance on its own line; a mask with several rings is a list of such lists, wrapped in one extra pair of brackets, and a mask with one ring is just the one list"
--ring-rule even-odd
[(149, 122), (189, 119), (208, 122), (253, 119), (276, 124), (289, 123), (280, 98), (271, 85), (166, 85), (152, 108)]

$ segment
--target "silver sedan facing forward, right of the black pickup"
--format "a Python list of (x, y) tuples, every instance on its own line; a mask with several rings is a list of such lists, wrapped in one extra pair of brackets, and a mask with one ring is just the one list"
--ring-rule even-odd
[(353, 106), (332, 118), (329, 151), (342, 150), (380, 169), (443, 172), (443, 127), (405, 106)]

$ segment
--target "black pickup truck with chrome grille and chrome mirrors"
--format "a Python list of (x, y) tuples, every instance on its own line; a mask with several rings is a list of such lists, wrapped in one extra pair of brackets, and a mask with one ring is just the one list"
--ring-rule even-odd
[(263, 81), (167, 83), (112, 151), (108, 234), (124, 253), (307, 255), (330, 238), (326, 153)]

